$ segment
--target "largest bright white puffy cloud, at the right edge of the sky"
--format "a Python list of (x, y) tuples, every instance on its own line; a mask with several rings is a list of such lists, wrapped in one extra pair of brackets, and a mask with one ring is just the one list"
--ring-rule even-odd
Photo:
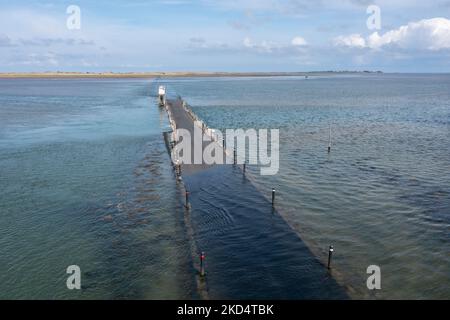
[(336, 46), (370, 49), (381, 49), (383, 47), (432, 51), (450, 49), (450, 20), (433, 18), (410, 22), (381, 35), (374, 32), (367, 38), (360, 34), (339, 36), (334, 39), (334, 44)]

